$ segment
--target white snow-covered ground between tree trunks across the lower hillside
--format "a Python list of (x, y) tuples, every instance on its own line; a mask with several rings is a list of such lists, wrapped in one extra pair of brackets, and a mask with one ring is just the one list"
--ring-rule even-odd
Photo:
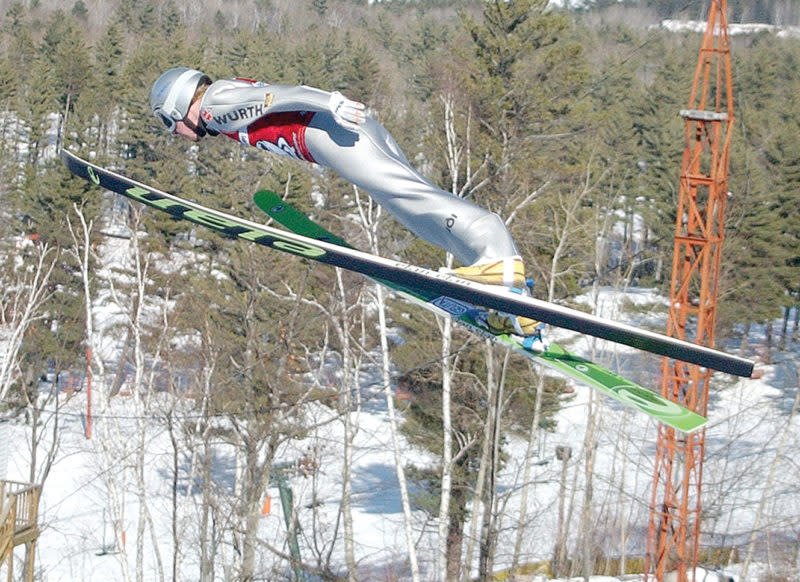
[[(623, 303), (637, 306), (635, 319), (658, 322), (663, 318), (663, 299), (648, 290), (634, 289), (620, 294), (600, 290), (596, 297), (584, 301), (596, 303), (601, 315), (621, 318)], [(631, 315), (625, 316), (630, 320)], [(630, 367), (632, 350), (619, 346), (601, 345), (587, 338), (560, 332), (559, 342), (570, 342), (573, 350), (606, 360), (614, 365), (622, 363)], [(757, 338), (754, 338), (757, 339)], [(714, 545), (743, 546), (749, 539), (757, 510), (762, 503), (765, 484), (771, 486), (766, 503), (766, 513), (779, 515), (775, 504), (780, 504), (789, 514), (783, 532), (765, 531), (764, 535), (797, 535), (797, 520), (800, 515), (800, 492), (787, 480), (797, 478), (797, 468), (784, 467), (773, 470), (781, 435), (784, 434), (788, 411), (794, 391), (797, 390), (797, 346), (794, 351), (780, 355), (777, 365), (763, 367), (764, 375), (759, 380), (734, 381), (729, 377), (715, 377), (712, 385), (710, 424), (707, 432), (707, 450), (704, 473), (704, 499), (707, 518), (704, 531), (705, 542)], [(648, 368), (648, 366), (645, 366)], [(653, 375), (651, 369), (645, 374)], [(641, 380), (641, 378), (640, 378)], [(653, 384), (652, 379), (649, 382)], [(646, 384), (647, 385), (647, 384)], [(389, 433), (388, 415), (383, 395), (365, 381), (363, 407), (355, 417), (358, 432), (355, 441), (353, 468), (353, 516), (357, 559), (366, 573), (363, 579), (387, 579), (390, 571), (405, 572), (405, 538), (403, 514), (394, 469), (394, 457)], [(590, 405), (590, 402), (593, 404)], [(554, 532), (558, 524), (558, 492), (562, 462), (555, 457), (556, 447), (570, 447), (574, 452), (568, 462), (568, 494), (575, 496), (575, 512), (579, 513), (584, 495), (584, 450), (588, 413), (591, 406), (602, 407), (598, 427), (597, 461), (594, 470), (595, 509), (591, 519), (605, 523), (608, 547), (626, 547), (628, 557), (641, 555), (644, 548), (643, 524), (646, 524), (649, 495), (652, 483), (653, 452), (655, 450), (656, 425), (644, 415), (622, 408), (618, 403), (597, 397), (584, 387), (576, 387), (575, 398), (558, 414), (558, 425), (554, 432), (542, 436), (535, 451), (533, 491), (528, 501), (528, 525), (523, 540), (523, 563), (548, 559), (552, 553)], [(83, 393), (74, 396), (63, 405), (61, 411), (60, 438), (57, 460), (47, 478), (40, 504), (42, 535), (37, 549), (37, 569), (40, 579), (47, 582), (67, 580), (106, 581), (121, 577), (120, 560), (127, 554), (128, 567), (133, 569), (138, 516), (138, 500), (130, 478), (117, 482), (124, 496), (123, 516), (126, 531), (127, 552), (120, 553), (114, 541), (113, 517), (109, 512), (109, 484), (113, 481), (102, 459), (101, 439), (106, 432), (103, 423), (111, 423), (119, 431), (121, 441), (137, 442), (138, 423), (141, 410), (130, 398), (116, 398), (111, 408), (95, 417), (93, 438), (86, 439), (86, 400)], [(322, 420), (330, 412), (324, 407), (309, 407), (309, 415)], [(47, 415), (44, 417), (47, 419)], [(8, 451), (7, 466), (0, 466), (0, 477), (9, 480), (28, 481), (30, 451), (30, 427), (22, 423), (5, 423), (4, 443)], [(144, 556), (145, 580), (158, 580), (159, 568), (169, 572), (171, 567), (171, 463), (172, 445), (170, 435), (162, 419), (154, 417), (143, 426), (146, 435), (145, 479), (148, 504), (153, 519), (145, 528), (146, 547), (160, 549), (159, 565), (154, 552)], [(800, 427), (797, 422), (791, 427), (789, 443), (797, 446)], [(45, 435), (47, 438), (47, 435)], [(286, 445), (280, 457), (297, 462), (313, 451), (318, 470), (313, 478), (296, 472), (287, 475), (294, 493), (295, 505), (300, 508), (298, 519), (304, 531), (315, 530), (317, 540), (332, 543), (335, 531), (339, 500), (342, 488), (342, 442), (341, 422), (321, 424), (306, 439)], [(133, 463), (138, 453), (135, 446), (119, 446), (119, 452), (131, 455), (126, 461), (120, 458), (117, 470), (122, 471)], [(422, 452), (408, 445), (402, 447), (406, 462), (426, 463)], [(503, 469), (499, 489), (503, 493), (503, 518), (500, 524), (501, 540), (498, 543), (496, 568), (502, 570), (511, 563), (516, 541), (516, 525), (520, 504), (520, 480), (526, 444), (522, 440), (510, 439), (507, 447), (510, 455)], [(3, 455), (0, 454), (0, 462)], [(236, 471), (233, 455), (226, 455), (220, 448), (215, 472), (233, 475)], [(115, 475), (118, 477), (118, 475)], [(612, 492), (622, 490), (625, 496)], [(183, 484), (182, 502), (193, 507), (199, 493)], [(269, 491), (271, 512), (262, 517), (260, 537), (278, 548), (285, 546), (285, 525), (278, 501), (278, 490)], [(310, 508), (314, 508), (313, 510)], [(191, 513), (191, 510), (189, 511)], [(436, 538), (435, 525), (427, 522), (422, 513), (415, 515), (415, 530), (418, 536), (417, 551), (423, 571), (423, 579), (433, 579)], [(772, 519), (772, 518), (771, 518)], [(575, 538), (577, 516), (573, 516), (572, 539)], [(793, 520), (794, 525), (792, 525)], [(188, 522), (187, 522), (188, 523)], [(764, 526), (764, 522), (760, 524)], [(599, 530), (602, 531), (602, 530)], [(713, 536), (711, 535), (713, 534)], [(185, 535), (195, 532), (189, 527)], [(326, 536), (330, 535), (330, 539)], [(341, 532), (338, 533), (334, 564), (343, 564), (341, 556)], [(625, 536), (626, 541), (619, 540)], [(301, 538), (302, 539), (302, 538)], [(307, 539), (307, 538), (306, 538)], [(155, 541), (154, 541), (155, 540)], [(304, 542), (307, 543), (307, 542)], [(601, 542), (595, 542), (602, 548)], [(301, 544), (301, 554), (310, 549)], [(226, 550), (232, 552), (232, 549)], [(199, 557), (191, 548), (185, 549), (182, 557), (180, 579), (197, 578)], [(263, 557), (270, 564), (269, 552)], [(756, 559), (763, 556), (756, 556)], [(19, 563), (20, 561), (18, 561)], [(732, 565), (726, 573), (737, 575), (737, 566)], [(132, 571), (132, 570), (131, 570)], [(749, 580), (757, 580), (758, 569), (751, 567)], [(167, 578), (170, 576), (167, 575)], [(224, 579), (221, 577), (219, 579)], [(631, 579), (627, 577), (625, 579)], [(698, 577), (698, 579), (702, 579)], [(593, 580), (612, 580), (595, 577)]]

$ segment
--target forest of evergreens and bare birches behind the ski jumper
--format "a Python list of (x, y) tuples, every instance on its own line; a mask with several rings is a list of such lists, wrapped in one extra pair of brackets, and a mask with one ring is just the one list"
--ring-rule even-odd
[[(264, 216), (251, 195), (272, 189), (361, 248), (445, 264), (441, 251), (332, 174), (228, 140), (177, 140), (147, 103), (153, 80), (176, 65), (212, 78), (339, 90), (367, 103), (434, 182), (507, 218), (538, 296), (574, 304), (606, 286), (666, 291), (684, 141), (678, 111), (700, 34), (660, 24), (702, 22), (706, 4), (0, 2), (0, 396), (6, 418), (31, 427), (30, 481), (46, 487), (59, 456), (59, 410), (68, 393), (85, 394), (91, 376), (94, 440), (118, 548), (120, 497), (128, 491), (138, 499), (136, 542), (120, 561), (125, 579), (149, 579), (144, 556), (153, 551), (163, 554), (161, 578), (180, 579), (186, 568), (202, 580), (300, 571), (358, 579), (348, 443), (358, 431), (354, 411), (364, 406), (355, 387), (365, 369), (377, 370), (387, 394), (404, 397), (387, 398), (395, 444), (402, 438), (430, 455), (414, 465), (397, 455), (403, 571), (414, 579), (470, 572), (488, 579), (505, 447), (515, 438), (534, 449), (569, 402), (569, 386), (387, 302), (358, 278), (101, 197), (71, 179), (55, 152), (69, 147), (254, 220)], [(718, 326), (720, 341), (769, 362), (798, 333), (800, 42), (791, 27), (800, 7), (789, 0), (728, 6), (731, 23), (782, 27), (733, 37), (736, 123)], [(109, 262), (118, 241), (126, 250)], [(758, 346), (748, 344), (754, 327), (765, 329)], [(628, 366), (634, 379), (657, 385), (657, 364)], [(109, 413), (121, 394), (130, 397), (127, 423)], [(333, 539), (307, 540), (304, 555), (311, 547), (314, 559), (298, 562), (291, 528), (270, 545), (259, 516), (287, 443), (313, 430), (309, 410), (319, 407), (332, 413), (325, 422), (343, 427), (341, 525)], [(160, 550), (146, 541), (158, 528), (153, 521), (166, 519), (145, 502), (142, 419), (153, 418), (168, 428), (174, 453), (172, 547)], [(592, 438), (576, 455), (586, 479)], [(234, 459), (230, 484), (216, 472), (223, 450)], [(112, 478), (121, 458), (136, 462)], [(311, 475), (318, 468), (313, 450), (293, 463)], [(193, 492), (186, 482), (197, 488), (195, 512), (180, 503)], [(576, 507), (593, 506), (591, 490), (587, 483)], [(641, 517), (647, 502), (640, 501)], [(415, 512), (430, 517), (435, 535), (420, 537)], [(559, 532), (553, 546), (528, 552), (532, 518), (520, 509), (512, 564), (528, 552), (552, 555), (554, 573), (586, 573), (599, 557), (625, 556), (624, 542), (599, 543), (602, 531), (592, 528), (603, 519), (590, 514), (576, 510), (579, 536)], [(415, 546), (430, 551), (427, 565)]]

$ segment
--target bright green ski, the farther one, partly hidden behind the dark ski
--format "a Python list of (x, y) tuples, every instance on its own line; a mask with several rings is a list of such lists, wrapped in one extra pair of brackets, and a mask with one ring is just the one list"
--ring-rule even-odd
[[(261, 210), (292, 232), (316, 240), (350, 247), (342, 238), (311, 220), (274, 192), (268, 190), (259, 191), (253, 197), (253, 200)], [(480, 320), (474, 318), (475, 306), (429, 291), (416, 290), (408, 285), (398, 285), (375, 277), (370, 278), (386, 285), (416, 305), (437, 315), (450, 317), (456, 324), (472, 333), (509, 348), (539, 365), (545, 365), (562, 375), (600, 390), (623, 404), (644, 412), (648, 416), (673, 428), (691, 432), (702, 427), (707, 422), (705, 417), (692, 412), (688, 408), (647, 390), (590, 360), (572, 354), (557, 344), (551, 342), (545, 351), (541, 351), (529, 347), (524, 339), (505, 334), (493, 334), (481, 324)]]

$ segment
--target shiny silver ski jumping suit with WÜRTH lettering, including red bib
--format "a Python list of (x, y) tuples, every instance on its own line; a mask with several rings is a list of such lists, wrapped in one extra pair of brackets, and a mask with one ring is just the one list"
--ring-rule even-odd
[(312, 87), (224, 79), (206, 90), (200, 117), (212, 135), (331, 168), (464, 265), (519, 254), (497, 214), (434, 186), (372, 118), (340, 125), (330, 99)]

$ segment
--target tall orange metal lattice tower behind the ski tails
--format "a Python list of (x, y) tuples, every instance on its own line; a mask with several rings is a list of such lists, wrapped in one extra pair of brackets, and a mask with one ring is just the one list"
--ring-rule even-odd
[[(667, 335), (714, 345), (714, 326), (728, 197), (733, 127), (727, 5), (712, 0), (692, 83), (675, 228)], [(662, 394), (706, 415), (711, 371), (665, 358)], [(705, 431), (659, 425), (647, 535), (648, 579), (677, 570), (679, 582), (697, 566)]]

